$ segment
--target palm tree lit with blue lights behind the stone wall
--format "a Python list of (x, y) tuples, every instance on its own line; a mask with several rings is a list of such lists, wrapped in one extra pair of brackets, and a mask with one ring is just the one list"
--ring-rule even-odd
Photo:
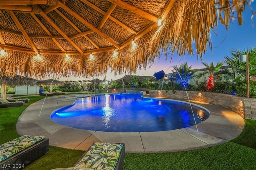
[(173, 68), (177, 71), (176, 73), (173, 73), (173, 75), (170, 78), (175, 78), (176, 80), (179, 80), (180, 83), (182, 81), (187, 84), (190, 79), (194, 77), (194, 73), (196, 73), (197, 70), (192, 69), (192, 65), (188, 66), (188, 62), (180, 64), (179, 66), (174, 65)]

